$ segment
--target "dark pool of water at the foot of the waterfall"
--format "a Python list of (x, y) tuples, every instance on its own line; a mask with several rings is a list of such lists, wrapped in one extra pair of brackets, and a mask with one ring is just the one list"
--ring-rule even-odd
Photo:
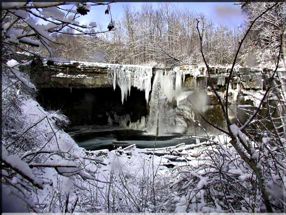
[[(108, 130), (78, 133), (73, 136), (75, 142), (86, 150), (113, 150), (118, 147), (127, 147), (136, 144), (137, 148), (162, 148), (175, 146), (180, 143), (195, 144), (196, 136), (172, 134), (167, 136), (149, 135), (139, 130)], [(155, 141), (156, 140), (156, 141)], [(200, 141), (205, 141), (200, 137)]]

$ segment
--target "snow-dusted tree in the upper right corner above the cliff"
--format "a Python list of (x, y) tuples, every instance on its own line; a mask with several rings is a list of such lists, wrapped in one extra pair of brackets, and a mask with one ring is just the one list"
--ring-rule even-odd
[[(241, 8), (247, 14), (248, 25), (262, 13), (265, 9), (271, 6), (270, 2), (241, 2)], [(286, 21), (286, 5), (280, 2), (272, 8), (266, 15), (261, 17), (252, 27), (249, 32), (247, 43), (254, 42), (253, 49), (245, 49), (245, 61), (247, 58), (252, 58), (253, 62), (265, 65), (267, 62), (276, 64), (280, 46), (280, 35)], [(285, 61), (285, 33), (283, 34), (282, 45), (282, 60)], [(249, 62), (250, 66), (253, 62)], [(285, 64), (285, 62), (283, 62)]]

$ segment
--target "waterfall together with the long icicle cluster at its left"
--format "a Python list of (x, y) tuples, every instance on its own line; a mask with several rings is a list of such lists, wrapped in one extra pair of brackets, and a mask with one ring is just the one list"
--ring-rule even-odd
[[(152, 68), (145, 66), (114, 65), (108, 69), (113, 77), (113, 87), (116, 84), (121, 89), (122, 104), (130, 95), (131, 87), (145, 91), (145, 100), (148, 103), (148, 116), (129, 124), (133, 129), (145, 129), (153, 135), (166, 135), (170, 133), (196, 133), (193, 128), (198, 122), (192, 105), (200, 111), (206, 109), (206, 93), (182, 89), (182, 81), (187, 74), (195, 78), (200, 75), (198, 68), (175, 67), (172, 70), (158, 69), (153, 77), (151, 86)], [(152, 89), (151, 89), (152, 88)], [(125, 123), (125, 121), (124, 121)], [(157, 128), (158, 125), (158, 128)]]

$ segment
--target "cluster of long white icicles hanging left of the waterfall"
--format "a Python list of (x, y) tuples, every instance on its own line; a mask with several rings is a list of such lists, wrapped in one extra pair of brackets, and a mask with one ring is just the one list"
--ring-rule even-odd
[(131, 87), (145, 92), (145, 100), (148, 103), (151, 90), (152, 68), (148, 66), (117, 65), (110, 64), (108, 67), (109, 76), (113, 77), (113, 88), (116, 84), (121, 90), (122, 104), (130, 95)]

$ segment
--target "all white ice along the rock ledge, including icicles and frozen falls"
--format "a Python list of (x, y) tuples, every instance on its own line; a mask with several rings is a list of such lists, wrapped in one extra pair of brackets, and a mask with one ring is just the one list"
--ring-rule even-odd
[[(205, 131), (217, 131), (201, 120), (199, 113), (208, 111), (207, 117), (213, 118), (224, 127), (224, 122), (217, 120), (219, 108), (208, 106), (206, 68), (199, 66), (179, 66), (173, 69), (157, 69), (152, 79), (152, 68), (146, 66), (134, 65), (108, 65), (109, 77), (113, 78), (113, 87), (118, 85), (121, 89), (122, 104), (130, 95), (131, 87), (136, 87), (145, 92), (145, 100), (149, 107), (148, 116), (131, 122), (130, 118), (124, 116), (118, 119), (121, 126), (131, 129), (146, 130), (153, 135), (166, 135), (171, 133), (186, 134), (205, 134)], [(193, 80), (192, 91), (182, 89), (186, 77)], [(199, 79), (200, 78), (200, 79)], [(217, 86), (225, 87), (226, 80), (224, 76), (216, 75)], [(240, 89), (240, 79), (236, 78), (234, 84), (229, 85), (229, 101), (235, 103)], [(236, 85), (236, 86), (235, 86)], [(189, 89), (189, 90), (191, 90)], [(149, 99), (149, 93), (151, 96)], [(244, 92), (244, 97), (249, 97), (248, 92)], [(223, 99), (225, 91), (217, 91), (217, 94)], [(260, 98), (261, 92), (252, 93)], [(209, 95), (210, 96), (210, 95)], [(257, 99), (257, 104), (260, 100)], [(230, 113), (230, 118), (234, 118)], [(110, 122), (111, 120), (109, 120)]]

